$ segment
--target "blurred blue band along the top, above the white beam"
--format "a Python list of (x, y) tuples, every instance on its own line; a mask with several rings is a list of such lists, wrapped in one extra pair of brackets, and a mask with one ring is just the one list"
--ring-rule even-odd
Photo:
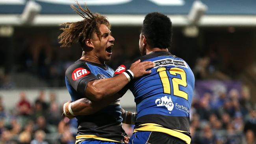
[[(22, 13), (28, 0), (0, 0), (0, 14)], [(74, 0), (34, 0), (40, 14), (75, 14), (70, 4)], [(187, 15), (192, 0), (78, 0), (92, 12), (116, 15), (145, 15), (158, 11), (167, 15)], [(202, 0), (208, 6), (206, 15), (256, 15), (256, 0)]]

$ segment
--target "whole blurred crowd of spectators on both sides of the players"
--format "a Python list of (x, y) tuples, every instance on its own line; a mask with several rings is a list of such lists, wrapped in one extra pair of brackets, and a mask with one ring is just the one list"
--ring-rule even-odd
[[(193, 99), (191, 144), (256, 144), (256, 103), (248, 87), (216, 93)], [(54, 92), (46, 101), (41, 90), (34, 102), (20, 92), (19, 102), (10, 111), (3, 103), (0, 99), (0, 144), (74, 144), (76, 119), (62, 116), (62, 103), (56, 101)], [(132, 135), (132, 125), (123, 128)]]

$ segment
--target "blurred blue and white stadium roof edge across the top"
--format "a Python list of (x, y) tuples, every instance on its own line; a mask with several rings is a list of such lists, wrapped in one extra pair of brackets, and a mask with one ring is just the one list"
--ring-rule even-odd
[[(33, 0), (40, 6), (33, 25), (58, 25), (82, 18), (70, 4), (74, 0)], [(78, 0), (92, 12), (106, 15), (112, 25), (141, 25), (147, 13), (168, 15), (174, 25), (189, 25), (187, 15), (192, 0)], [(202, 0), (208, 9), (200, 26), (256, 26), (256, 0)], [(21, 25), (20, 17), (28, 0), (0, 0), (0, 24)]]

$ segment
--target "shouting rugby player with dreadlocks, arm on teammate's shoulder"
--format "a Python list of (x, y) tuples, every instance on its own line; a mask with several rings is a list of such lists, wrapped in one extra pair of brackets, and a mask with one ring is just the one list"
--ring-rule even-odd
[[(115, 39), (111, 36), (110, 24), (106, 17), (99, 13), (91, 13), (78, 4), (72, 9), (83, 17), (82, 21), (67, 22), (63, 32), (59, 35), (62, 47), (79, 42), (83, 53), (82, 57), (66, 70), (66, 86), (72, 101), (81, 98), (92, 104), (89, 115), (76, 116), (78, 119), (78, 135), (76, 143), (80, 144), (116, 144), (123, 142), (122, 109), (118, 98), (119, 92), (131, 79), (150, 74), (149, 68), (154, 67), (151, 61), (140, 60), (130, 66), (119, 76), (112, 78), (114, 71), (105, 65), (109, 61)], [(119, 93), (118, 93), (119, 92)], [(98, 107), (100, 105), (100, 107)], [(105, 106), (102, 109), (102, 106)], [(72, 113), (71, 104), (68, 106)], [(97, 111), (97, 112), (96, 112)], [(96, 113), (95, 113), (96, 112)], [(126, 141), (127, 142), (127, 139)]]

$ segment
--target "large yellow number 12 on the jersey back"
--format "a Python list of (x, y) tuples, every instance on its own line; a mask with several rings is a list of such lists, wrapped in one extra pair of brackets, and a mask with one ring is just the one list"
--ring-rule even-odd
[[(166, 68), (160, 67), (157, 69), (157, 72), (159, 72), (159, 76), (163, 83), (163, 92), (166, 94), (171, 94), (171, 84), (167, 76)], [(181, 79), (172, 78), (173, 95), (185, 98), (187, 100), (188, 99), (187, 93), (179, 89), (179, 85), (182, 85), (183, 87), (187, 87), (186, 72), (182, 68), (171, 68), (169, 72), (171, 75), (174, 75), (174, 76), (177, 76), (177, 74), (180, 74), (180, 77), (181, 77)]]

